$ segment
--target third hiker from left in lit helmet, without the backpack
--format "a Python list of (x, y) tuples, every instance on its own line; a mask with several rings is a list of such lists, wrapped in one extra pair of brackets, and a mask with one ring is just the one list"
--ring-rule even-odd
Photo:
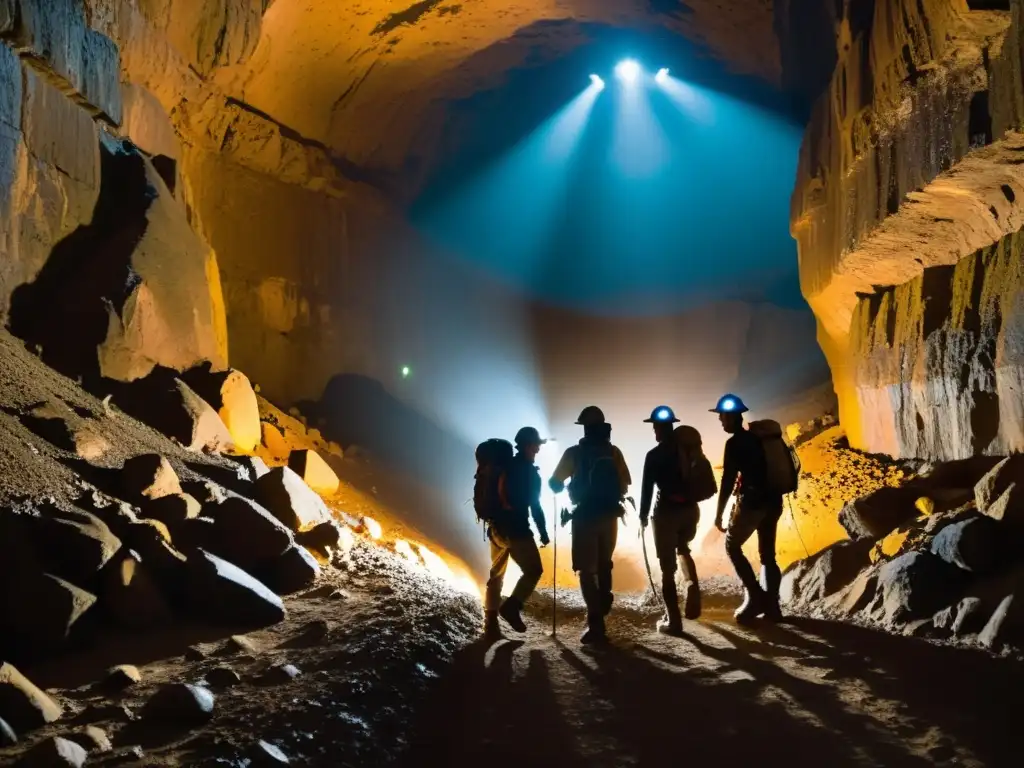
[[(697, 534), (700, 509), (689, 498), (687, 478), (683, 475), (679, 449), (676, 444), (674, 425), (679, 419), (668, 406), (655, 408), (644, 423), (654, 427), (657, 445), (647, 452), (643, 464), (643, 482), (640, 492), (640, 525), (647, 527), (651, 498), (657, 487), (654, 503), (654, 551), (662, 566), (662, 596), (666, 614), (657, 623), (657, 631), (680, 635), (683, 617), (679, 612), (679, 594), (676, 590), (677, 557), (686, 579), (686, 617), (700, 615), (700, 585), (696, 565), (690, 554), (690, 542)], [(695, 430), (694, 430), (695, 431)]]

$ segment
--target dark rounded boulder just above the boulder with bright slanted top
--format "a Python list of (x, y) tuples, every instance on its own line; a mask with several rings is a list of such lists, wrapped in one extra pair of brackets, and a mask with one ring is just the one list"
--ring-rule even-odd
[(208, 505), (204, 516), (213, 518), (216, 549), (213, 552), (244, 568), (258, 568), (285, 554), (292, 546), (292, 532), (254, 501), (229, 496)]

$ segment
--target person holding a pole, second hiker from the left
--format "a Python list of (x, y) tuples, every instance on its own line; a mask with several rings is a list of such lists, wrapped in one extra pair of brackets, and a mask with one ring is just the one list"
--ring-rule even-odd
[(583, 643), (606, 639), (604, 617), (611, 610), (611, 557), (625, 514), (623, 497), (633, 481), (622, 452), (611, 444), (611, 425), (597, 406), (581, 412), (583, 439), (562, 454), (548, 485), (556, 494), (569, 480), (572, 502), (572, 570), (587, 605)]

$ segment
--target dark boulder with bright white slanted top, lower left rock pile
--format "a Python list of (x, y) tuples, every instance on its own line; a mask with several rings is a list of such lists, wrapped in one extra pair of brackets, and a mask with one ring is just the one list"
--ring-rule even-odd
[(268, 627), (285, 620), (281, 598), (232, 563), (199, 550), (188, 558), (189, 606), (218, 626)]

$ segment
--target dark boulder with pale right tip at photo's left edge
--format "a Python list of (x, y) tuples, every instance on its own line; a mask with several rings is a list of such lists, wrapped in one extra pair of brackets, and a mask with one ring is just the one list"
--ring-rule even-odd
[(29, 570), (5, 579), (0, 584), (0, 657), (4, 648), (27, 655), (59, 649), (95, 602), (94, 595), (52, 573)]

